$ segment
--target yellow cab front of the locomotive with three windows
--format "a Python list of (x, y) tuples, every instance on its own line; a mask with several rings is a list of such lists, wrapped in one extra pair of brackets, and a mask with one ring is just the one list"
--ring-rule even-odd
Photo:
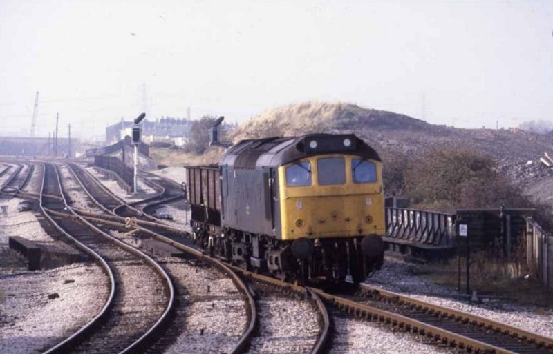
[(316, 155), (279, 167), (283, 240), (384, 235), (382, 164)]

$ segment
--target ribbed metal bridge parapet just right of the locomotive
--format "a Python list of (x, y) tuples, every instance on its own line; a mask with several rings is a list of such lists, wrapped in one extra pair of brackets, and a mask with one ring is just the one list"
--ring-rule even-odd
[(427, 210), (386, 208), (386, 236), (394, 240), (451, 247), (455, 215)]

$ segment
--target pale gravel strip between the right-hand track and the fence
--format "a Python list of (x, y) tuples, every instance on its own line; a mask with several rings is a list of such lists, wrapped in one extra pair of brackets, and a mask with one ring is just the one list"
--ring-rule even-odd
[(386, 259), (382, 270), (368, 279), (367, 283), (432, 304), (467, 311), (497, 322), (553, 337), (552, 308), (544, 310), (536, 306), (523, 306), (508, 302), (478, 304), (462, 299), (444, 298), (444, 296), (458, 295), (458, 292), (451, 288), (435, 285), (422, 275), (413, 274), (413, 267), (413, 264)]

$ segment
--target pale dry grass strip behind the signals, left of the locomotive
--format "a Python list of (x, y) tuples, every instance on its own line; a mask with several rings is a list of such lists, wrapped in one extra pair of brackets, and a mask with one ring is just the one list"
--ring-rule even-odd
[(150, 157), (158, 165), (165, 166), (216, 164), (223, 156), (223, 153), (223, 148), (215, 146), (208, 148), (203, 155), (185, 153), (180, 149), (174, 148), (150, 148)]

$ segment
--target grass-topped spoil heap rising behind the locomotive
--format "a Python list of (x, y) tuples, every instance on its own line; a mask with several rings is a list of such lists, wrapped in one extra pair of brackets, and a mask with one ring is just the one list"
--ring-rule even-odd
[(238, 142), (308, 132), (354, 132), (384, 157), (409, 158), (421, 150), (440, 146), (480, 150), (496, 159), (500, 172), (532, 194), (544, 192), (541, 188), (536, 190), (534, 184), (549, 178), (549, 171), (536, 161), (544, 151), (553, 153), (553, 141), (546, 135), (516, 129), (439, 126), (406, 115), (344, 103), (307, 102), (276, 108), (239, 126), (232, 139)]

